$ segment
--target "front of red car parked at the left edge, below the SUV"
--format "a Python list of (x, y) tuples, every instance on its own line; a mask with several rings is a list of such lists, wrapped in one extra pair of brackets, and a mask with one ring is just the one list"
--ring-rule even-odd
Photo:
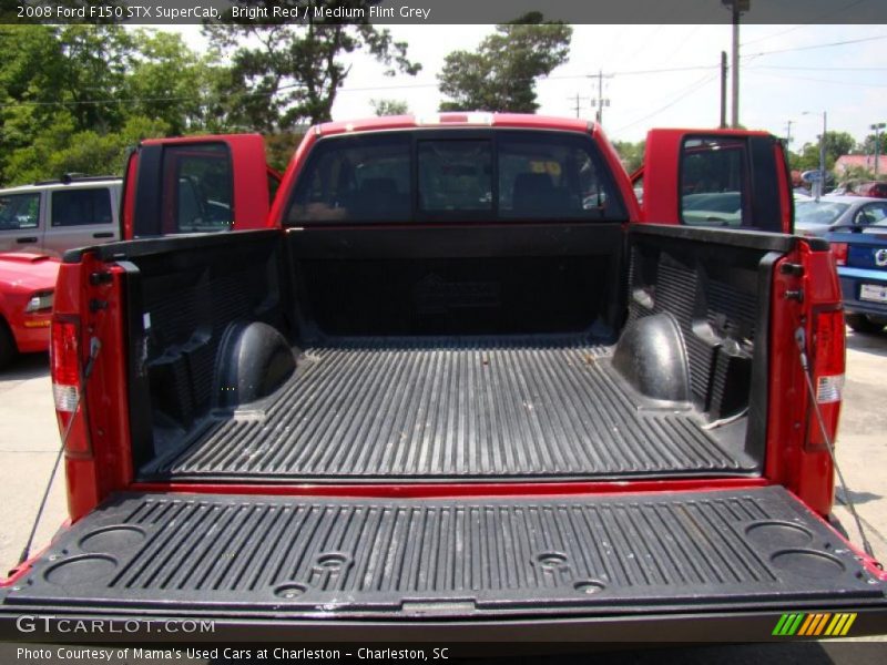
[(0, 254), (0, 368), (49, 348), (59, 265), (45, 254)]

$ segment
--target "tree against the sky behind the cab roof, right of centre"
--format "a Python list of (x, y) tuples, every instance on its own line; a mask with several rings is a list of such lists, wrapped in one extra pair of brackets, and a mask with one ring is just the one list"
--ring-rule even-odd
[(438, 74), (445, 111), (533, 113), (536, 80), (567, 62), (572, 28), (529, 12), (496, 27), (477, 51), (453, 51)]

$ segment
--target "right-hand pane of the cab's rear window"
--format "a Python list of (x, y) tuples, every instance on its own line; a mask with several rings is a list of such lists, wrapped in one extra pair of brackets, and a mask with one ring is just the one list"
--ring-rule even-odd
[(499, 215), (599, 219), (624, 211), (587, 141), (514, 133), (499, 141)]

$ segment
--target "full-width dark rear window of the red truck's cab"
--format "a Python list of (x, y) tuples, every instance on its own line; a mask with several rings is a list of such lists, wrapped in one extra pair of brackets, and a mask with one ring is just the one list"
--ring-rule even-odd
[(285, 224), (625, 218), (589, 136), (446, 130), (322, 140)]

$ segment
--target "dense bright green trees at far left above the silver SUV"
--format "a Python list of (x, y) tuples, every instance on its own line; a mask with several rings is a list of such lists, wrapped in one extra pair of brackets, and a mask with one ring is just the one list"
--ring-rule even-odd
[(0, 183), (120, 173), (146, 136), (203, 129), (205, 63), (177, 35), (0, 25)]

